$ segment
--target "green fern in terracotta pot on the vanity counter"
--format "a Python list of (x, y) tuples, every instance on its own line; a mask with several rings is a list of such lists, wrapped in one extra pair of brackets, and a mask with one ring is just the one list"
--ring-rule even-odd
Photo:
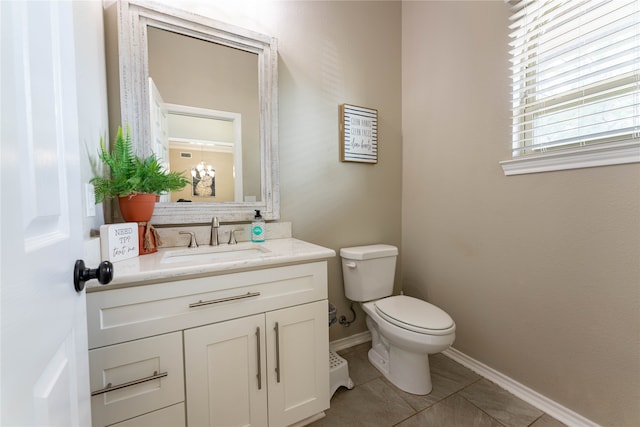
[[(157, 197), (170, 191), (181, 190), (189, 184), (189, 179), (181, 173), (166, 171), (155, 154), (148, 157), (135, 155), (129, 128), (124, 134), (122, 127), (118, 127), (111, 152), (100, 138), (99, 158), (110, 173), (104, 176), (96, 175), (91, 179), (95, 188), (96, 204), (107, 198), (118, 198), (122, 218), (144, 227), (142, 233), (145, 236), (150, 234), (151, 227), (147, 223), (153, 215)], [(155, 249), (155, 244), (151, 245), (149, 240), (145, 239), (144, 246), (153, 246), (152, 249)], [(142, 244), (140, 250), (143, 250)]]

